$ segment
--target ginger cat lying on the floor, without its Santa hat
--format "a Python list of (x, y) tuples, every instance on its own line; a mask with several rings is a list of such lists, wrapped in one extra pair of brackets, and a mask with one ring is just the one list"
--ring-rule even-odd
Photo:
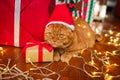
[(45, 29), (45, 42), (54, 47), (54, 60), (69, 63), (74, 55), (84, 48), (93, 47), (95, 33), (89, 24), (81, 18), (73, 18), (75, 30), (63, 24), (50, 24)]

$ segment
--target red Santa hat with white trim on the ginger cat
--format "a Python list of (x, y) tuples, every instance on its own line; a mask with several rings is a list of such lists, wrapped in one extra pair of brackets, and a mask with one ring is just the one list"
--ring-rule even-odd
[(46, 27), (50, 24), (63, 24), (71, 30), (74, 30), (72, 14), (66, 4), (56, 5)]

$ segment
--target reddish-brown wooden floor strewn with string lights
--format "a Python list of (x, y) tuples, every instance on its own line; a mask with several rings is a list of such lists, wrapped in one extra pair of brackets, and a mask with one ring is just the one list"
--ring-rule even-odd
[[(0, 46), (0, 80), (120, 80), (120, 19), (108, 17), (93, 25), (104, 36), (70, 64), (25, 63), (21, 48)], [(102, 30), (102, 31), (101, 31)]]

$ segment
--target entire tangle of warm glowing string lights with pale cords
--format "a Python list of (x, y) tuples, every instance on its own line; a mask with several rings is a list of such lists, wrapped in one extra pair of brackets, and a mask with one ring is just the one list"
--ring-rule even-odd
[[(76, 18), (77, 19), (77, 18)], [(78, 26), (80, 26), (78, 24)], [(83, 26), (84, 28), (85, 26)], [(113, 35), (114, 34), (114, 35)], [(88, 32), (88, 36), (90, 36), (89, 32)], [(107, 44), (109, 45), (114, 45), (115, 47), (119, 47), (120, 46), (120, 33), (118, 32), (114, 32), (112, 30), (109, 30), (107, 34), (104, 34), (105, 37), (109, 38), (109, 41), (107, 42)], [(44, 78), (42, 78), (41, 80), (52, 80), (51, 78), (48, 78), (48, 76), (51, 75), (57, 75), (57, 80), (60, 80), (61, 78), (61, 74), (60, 72), (65, 71), (65, 69), (67, 69), (68, 67), (72, 67), (75, 68), (77, 70), (83, 71), (86, 73), (86, 75), (94, 78), (94, 77), (104, 77), (104, 80), (112, 80), (114, 77), (116, 78), (120, 78), (120, 75), (111, 75), (108, 72), (112, 71), (113, 68), (119, 67), (119, 65), (117, 63), (112, 63), (110, 62), (110, 56), (114, 57), (117, 55), (120, 55), (120, 50), (113, 50), (113, 51), (104, 51), (104, 52), (100, 52), (95, 50), (89, 50), (90, 51), (90, 60), (86, 61), (85, 57), (83, 57), (82, 55), (84, 54), (84, 51), (87, 49), (82, 49), (81, 50), (81, 56), (76, 56), (74, 55), (74, 57), (82, 59), (83, 60), (83, 66), (80, 67), (76, 67), (73, 65), (66, 65), (64, 69), (60, 70), (59, 72), (55, 72), (51, 69), (49, 69), (48, 67), (51, 66), (53, 64), (53, 62), (47, 64), (46, 66), (36, 66), (34, 63), (32, 63), (30, 61), (30, 59), (28, 58), (28, 61), (30, 62), (30, 64), (33, 66), (32, 68), (29, 69), (29, 71), (34, 71), (33, 74), (36, 75), (43, 75), (45, 76)], [(0, 53), (4, 53), (4, 49), (3, 47), (0, 47)], [(102, 55), (104, 54), (104, 55)], [(100, 57), (100, 55), (102, 55)], [(96, 66), (96, 61), (98, 60), (99, 62), (101, 62), (101, 68), (99, 68), (98, 66)], [(19, 68), (16, 67), (16, 64), (14, 64), (12, 67), (9, 67), (10, 65), (10, 59), (8, 60), (8, 64), (0, 64), (0, 79), (11, 79), (11, 78), (15, 78), (16, 76), (22, 76), (24, 77), (26, 80), (34, 80), (33, 77), (31, 77), (29, 75), (29, 71), (22, 71)], [(86, 69), (86, 65), (89, 65), (90, 67), (93, 67), (95, 70), (89, 72)], [(103, 67), (105, 67), (105, 70), (103, 69)], [(36, 70), (38, 70), (37, 72), (35, 72)], [(49, 73), (46, 74), (44, 71), (48, 71)], [(9, 74), (11, 76), (2, 76), (5, 74)], [(19, 79), (19, 78), (18, 78)]]

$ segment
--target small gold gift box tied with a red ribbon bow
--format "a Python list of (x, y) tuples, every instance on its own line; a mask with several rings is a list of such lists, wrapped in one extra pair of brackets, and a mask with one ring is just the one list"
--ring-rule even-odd
[(22, 50), (22, 55), (28, 62), (53, 61), (53, 48), (46, 43), (28, 43)]

